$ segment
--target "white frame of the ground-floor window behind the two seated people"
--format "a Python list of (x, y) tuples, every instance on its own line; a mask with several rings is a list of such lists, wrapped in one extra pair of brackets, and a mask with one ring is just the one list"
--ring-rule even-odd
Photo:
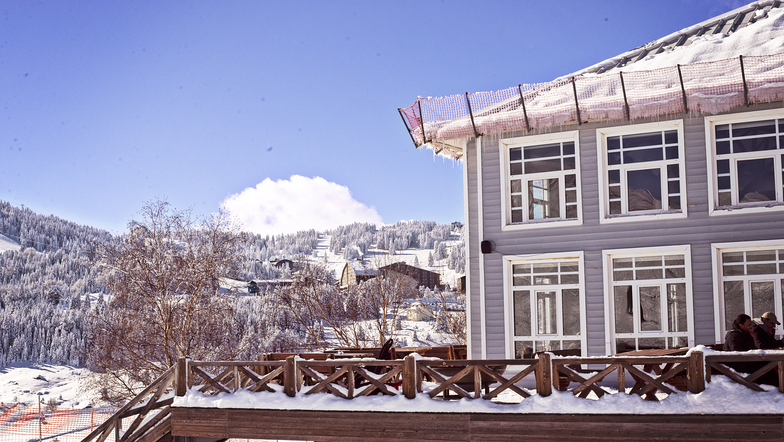
[[(714, 324), (715, 324), (715, 338), (716, 343), (724, 342), (724, 335), (727, 333), (727, 328), (724, 324), (725, 318), (725, 308), (724, 308), (724, 266), (721, 258), (721, 254), (724, 252), (747, 252), (747, 251), (754, 251), (754, 250), (778, 250), (784, 249), (784, 239), (775, 239), (775, 240), (763, 240), (763, 241), (741, 241), (741, 242), (729, 242), (729, 243), (714, 243), (711, 244), (711, 265), (713, 267), (713, 314), (714, 314)], [(766, 280), (770, 279), (770, 277), (766, 277), (768, 275), (745, 275), (745, 276), (732, 276), (729, 277), (732, 280), (743, 280), (744, 284), (747, 284), (748, 281), (752, 280)], [(777, 273), (773, 276), (774, 280), (783, 280), (784, 273)], [(784, 311), (782, 310), (782, 303), (781, 303), (781, 287), (782, 283), (774, 284), (774, 296), (778, 298), (779, 302), (775, 302), (775, 312), (776, 317), (781, 318), (784, 316)], [(745, 289), (744, 289), (745, 291)], [(748, 293), (745, 294), (746, 298), (750, 296)], [(738, 312), (738, 313), (746, 313), (751, 316), (750, 312)], [(782, 334), (781, 329), (776, 329), (777, 335)]]

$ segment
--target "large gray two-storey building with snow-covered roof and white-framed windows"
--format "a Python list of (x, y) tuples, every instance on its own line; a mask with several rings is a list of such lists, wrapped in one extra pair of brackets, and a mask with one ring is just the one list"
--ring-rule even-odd
[(470, 357), (784, 317), (782, 23), (755, 2), (550, 83), (400, 109), (417, 147), (463, 162)]

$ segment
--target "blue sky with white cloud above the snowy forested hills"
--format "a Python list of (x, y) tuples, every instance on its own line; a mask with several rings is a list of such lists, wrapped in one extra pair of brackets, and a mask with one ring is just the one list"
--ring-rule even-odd
[(733, 0), (0, 4), (0, 200), (122, 233), (145, 202), (260, 234), (463, 221), (397, 109), (553, 80)]

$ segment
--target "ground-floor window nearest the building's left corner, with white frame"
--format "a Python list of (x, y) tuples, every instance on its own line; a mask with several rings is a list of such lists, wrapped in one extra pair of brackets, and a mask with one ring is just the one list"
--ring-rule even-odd
[(514, 357), (585, 348), (582, 254), (505, 257)]

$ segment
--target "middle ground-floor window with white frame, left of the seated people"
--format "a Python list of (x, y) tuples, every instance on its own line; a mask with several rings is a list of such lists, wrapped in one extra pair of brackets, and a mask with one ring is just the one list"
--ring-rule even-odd
[(608, 353), (693, 344), (689, 253), (688, 246), (604, 252)]

